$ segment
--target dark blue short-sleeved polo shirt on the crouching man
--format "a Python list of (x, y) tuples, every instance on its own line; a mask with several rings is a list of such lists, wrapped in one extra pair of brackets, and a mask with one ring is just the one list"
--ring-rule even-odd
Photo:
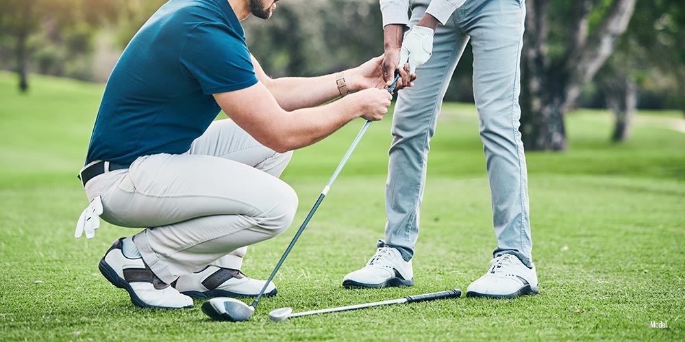
[(226, 0), (171, 0), (129, 42), (105, 87), (86, 163), (184, 153), (221, 108), (212, 94), (257, 83)]

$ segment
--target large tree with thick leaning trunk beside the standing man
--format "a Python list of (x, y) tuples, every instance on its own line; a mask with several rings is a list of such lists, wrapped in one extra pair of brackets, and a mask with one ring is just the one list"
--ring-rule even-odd
[(521, 134), (527, 149), (566, 149), (564, 113), (611, 55), (634, 7), (635, 0), (526, 2)]

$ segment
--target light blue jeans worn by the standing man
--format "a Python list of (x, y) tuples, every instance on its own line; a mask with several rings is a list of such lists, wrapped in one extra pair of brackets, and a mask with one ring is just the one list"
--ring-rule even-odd
[[(412, 0), (415, 25), (429, 0)], [(471, 39), (473, 94), (490, 180), (497, 249), (531, 267), (527, 171), (519, 132), (519, 74), (523, 44), (523, 0), (467, 0), (434, 36), (433, 55), (416, 69), (413, 88), (399, 92), (393, 117), (386, 184), (385, 241), (404, 259), (414, 255), (419, 236), (429, 142), (457, 63)]]

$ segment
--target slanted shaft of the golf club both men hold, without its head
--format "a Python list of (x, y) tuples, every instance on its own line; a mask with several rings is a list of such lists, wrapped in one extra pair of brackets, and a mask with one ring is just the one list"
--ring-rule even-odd
[[(397, 80), (398, 79), (399, 79), (399, 73), (396, 73), (395, 81), (393, 81), (393, 84), (391, 84), (387, 88), (388, 92), (392, 93), (393, 90), (395, 90), (395, 86), (397, 86)], [(281, 268), (283, 261), (286, 259), (286, 257), (288, 257), (288, 253), (290, 253), (290, 250), (292, 250), (292, 246), (295, 246), (295, 242), (297, 242), (297, 239), (302, 234), (302, 231), (304, 231), (304, 228), (306, 228), (307, 224), (309, 223), (309, 220), (311, 220), (312, 216), (314, 216), (314, 212), (316, 212), (316, 209), (318, 209), (319, 205), (321, 205), (321, 201), (323, 201), (323, 198), (328, 193), (328, 190), (331, 189), (333, 182), (336, 181), (336, 178), (338, 178), (338, 174), (340, 174), (340, 171), (343, 170), (345, 163), (347, 163), (347, 159), (349, 159), (349, 157), (352, 155), (352, 152), (357, 147), (357, 144), (359, 144), (359, 141), (362, 140), (362, 136), (364, 136), (364, 133), (366, 133), (366, 129), (369, 128), (370, 124), (371, 124), (370, 120), (366, 120), (366, 122), (364, 122), (364, 126), (362, 126), (362, 129), (357, 134), (357, 137), (354, 138), (354, 141), (352, 142), (351, 146), (349, 146), (349, 148), (347, 149), (347, 153), (345, 153), (345, 157), (343, 157), (343, 160), (340, 161), (340, 163), (338, 164), (338, 168), (336, 168), (335, 172), (333, 172), (333, 176), (331, 176), (331, 179), (329, 179), (328, 183), (323, 188), (321, 195), (319, 195), (319, 199), (316, 200), (316, 203), (314, 203), (314, 207), (312, 207), (312, 210), (309, 211), (307, 218), (305, 218), (304, 222), (302, 222), (302, 225), (297, 230), (297, 233), (295, 233), (295, 237), (292, 237), (292, 240), (290, 241), (288, 248), (286, 248), (286, 251), (283, 253), (281, 259), (276, 264), (276, 267), (273, 269), (273, 272), (271, 272), (271, 276), (269, 276), (269, 279), (266, 280), (266, 283), (264, 283), (264, 287), (262, 287), (262, 291), (259, 292), (259, 294), (257, 295), (257, 298), (255, 298), (254, 302), (252, 302), (251, 306), (253, 308), (257, 307), (257, 304), (259, 303), (260, 298), (262, 298), (262, 295), (264, 295), (264, 291), (266, 291), (266, 287), (269, 286), (269, 283), (271, 283), (271, 280), (273, 280), (273, 277), (276, 275), (276, 272), (278, 272), (278, 269)]]

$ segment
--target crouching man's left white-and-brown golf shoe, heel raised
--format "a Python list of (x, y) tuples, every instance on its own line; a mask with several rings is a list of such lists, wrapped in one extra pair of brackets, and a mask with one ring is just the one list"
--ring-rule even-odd
[(114, 241), (99, 269), (112, 285), (128, 291), (133, 304), (141, 308), (192, 308), (192, 298), (162, 282), (142, 258), (126, 257), (122, 246), (123, 238)]

